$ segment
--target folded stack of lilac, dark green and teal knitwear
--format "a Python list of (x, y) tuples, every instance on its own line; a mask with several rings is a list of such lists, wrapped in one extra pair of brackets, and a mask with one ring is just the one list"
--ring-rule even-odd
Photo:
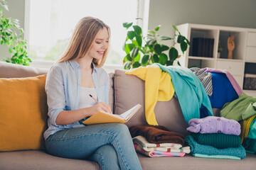
[(243, 159), (245, 148), (241, 145), (240, 124), (236, 120), (217, 116), (189, 120), (191, 132), (185, 142), (194, 157)]

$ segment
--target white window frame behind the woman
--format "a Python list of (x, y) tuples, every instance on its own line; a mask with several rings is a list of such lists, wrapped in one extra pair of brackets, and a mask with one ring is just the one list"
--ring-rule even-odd
[[(32, 0), (33, 1), (33, 0)], [(129, 1), (129, 0), (128, 0)], [(142, 27), (142, 33), (146, 34), (149, 23), (149, 0), (138, 0), (137, 17), (143, 18), (142, 21), (138, 20), (138, 25)], [(24, 18), (24, 38), (29, 40), (29, 28), (30, 28), (30, 15), (31, 15), (31, 0), (25, 0), (25, 18)], [(29, 41), (27, 42), (28, 56), (29, 56)], [(33, 60), (30, 63), (31, 67), (50, 69), (54, 64), (54, 61), (48, 60)], [(103, 68), (107, 72), (113, 72), (114, 69), (122, 69), (122, 64), (104, 64)]]

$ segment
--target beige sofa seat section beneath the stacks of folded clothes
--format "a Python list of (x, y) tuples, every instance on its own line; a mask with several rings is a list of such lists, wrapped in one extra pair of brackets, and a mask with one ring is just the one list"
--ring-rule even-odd
[(245, 159), (209, 159), (193, 157), (191, 154), (186, 154), (184, 157), (145, 157), (138, 154), (139, 161), (142, 164), (142, 169), (156, 170), (156, 169), (218, 169), (218, 170), (241, 170), (241, 169), (255, 169), (256, 154), (247, 153)]

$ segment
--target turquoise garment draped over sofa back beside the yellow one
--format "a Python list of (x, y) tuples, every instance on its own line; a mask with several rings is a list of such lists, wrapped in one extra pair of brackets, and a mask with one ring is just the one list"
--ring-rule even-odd
[(193, 118), (201, 118), (200, 108), (202, 105), (207, 109), (208, 115), (213, 115), (213, 108), (210, 105), (206, 89), (190, 69), (176, 66), (166, 67), (159, 63), (154, 64), (171, 75), (174, 90), (186, 123)]

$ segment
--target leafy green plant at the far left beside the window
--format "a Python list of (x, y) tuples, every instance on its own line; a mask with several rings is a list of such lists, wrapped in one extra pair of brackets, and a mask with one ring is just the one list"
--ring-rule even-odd
[[(0, 6), (9, 11), (6, 0), (0, 0)], [(19, 21), (6, 18), (0, 8), (0, 44), (7, 45), (11, 53), (11, 58), (4, 60), (14, 64), (29, 65), (31, 59), (28, 57), (26, 42), (27, 40), (23, 40), (23, 28), (19, 25)]]

